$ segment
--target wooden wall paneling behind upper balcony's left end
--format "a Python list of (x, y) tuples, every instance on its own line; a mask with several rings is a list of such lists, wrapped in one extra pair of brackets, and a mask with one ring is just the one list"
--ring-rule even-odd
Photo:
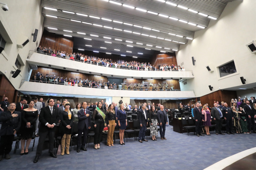
[(39, 45), (42, 48), (46, 47), (48, 49), (50, 47), (52, 50), (66, 51), (66, 53), (70, 54), (72, 53), (74, 42), (73, 37), (64, 37), (44, 30)]

